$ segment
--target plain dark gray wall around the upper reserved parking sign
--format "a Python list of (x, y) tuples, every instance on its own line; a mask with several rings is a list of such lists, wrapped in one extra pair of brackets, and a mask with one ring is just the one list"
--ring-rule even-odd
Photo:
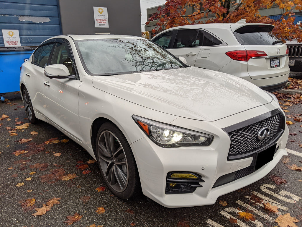
[[(109, 28), (95, 28), (93, 7), (107, 8)], [(140, 0), (59, 0), (59, 9), (63, 35), (141, 36)]]

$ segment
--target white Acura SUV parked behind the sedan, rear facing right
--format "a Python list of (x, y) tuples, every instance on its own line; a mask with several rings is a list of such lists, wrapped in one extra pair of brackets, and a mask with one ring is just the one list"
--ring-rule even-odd
[(151, 40), (189, 65), (232, 74), (274, 92), (286, 85), (290, 69), (288, 48), (271, 33), (273, 28), (243, 19), (169, 28)]

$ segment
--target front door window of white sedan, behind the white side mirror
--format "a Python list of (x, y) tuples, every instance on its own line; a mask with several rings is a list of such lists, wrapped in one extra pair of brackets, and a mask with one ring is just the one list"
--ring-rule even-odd
[(70, 75), (76, 74), (71, 51), (66, 43), (56, 43), (50, 64), (63, 64), (68, 68)]

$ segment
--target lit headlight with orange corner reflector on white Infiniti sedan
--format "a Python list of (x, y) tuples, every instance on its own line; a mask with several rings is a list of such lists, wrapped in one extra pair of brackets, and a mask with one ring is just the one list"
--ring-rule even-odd
[(181, 146), (209, 146), (214, 137), (133, 115), (133, 120), (157, 145), (167, 148)]

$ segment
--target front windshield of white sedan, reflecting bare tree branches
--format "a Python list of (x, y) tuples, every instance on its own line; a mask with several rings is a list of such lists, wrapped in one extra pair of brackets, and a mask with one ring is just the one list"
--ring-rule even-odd
[(186, 67), (146, 39), (93, 39), (76, 41), (82, 64), (92, 75), (116, 75)]

